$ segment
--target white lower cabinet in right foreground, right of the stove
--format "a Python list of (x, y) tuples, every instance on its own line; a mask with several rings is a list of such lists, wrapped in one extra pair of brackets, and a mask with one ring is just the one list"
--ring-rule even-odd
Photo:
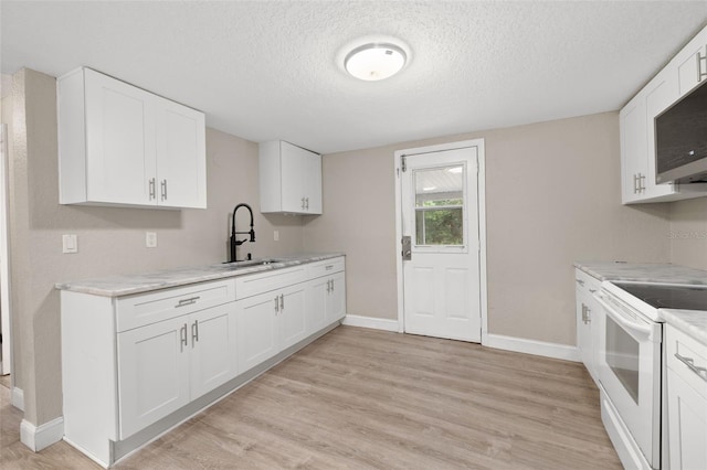
[(671, 469), (707, 469), (707, 345), (666, 327)]

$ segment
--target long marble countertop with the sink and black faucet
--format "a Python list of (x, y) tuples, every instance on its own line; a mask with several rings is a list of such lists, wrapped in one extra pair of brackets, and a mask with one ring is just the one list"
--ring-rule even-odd
[[(218, 265), (183, 267), (154, 273), (109, 276), (70, 282), (59, 282), (54, 287), (60, 290), (92, 293), (103, 297), (122, 297), (149, 292), (157, 289), (179, 287), (188, 284), (226, 279), (272, 269), (282, 269), (306, 263), (345, 256), (342, 253), (299, 253), (295, 255), (273, 256), (253, 261), (221, 263)], [(270, 260), (268, 264), (257, 264)], [(254, 265), (255, 264), (255, 265)]]

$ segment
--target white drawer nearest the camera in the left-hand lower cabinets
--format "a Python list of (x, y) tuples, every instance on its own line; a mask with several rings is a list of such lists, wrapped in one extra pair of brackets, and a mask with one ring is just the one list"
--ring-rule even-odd
[(117, 331), (131, 330), (234, 300), (233, 279), (120, 298), (116, 305)]

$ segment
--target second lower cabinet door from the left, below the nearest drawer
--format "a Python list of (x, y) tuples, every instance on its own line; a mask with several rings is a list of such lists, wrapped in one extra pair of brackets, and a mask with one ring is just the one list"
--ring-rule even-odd
[(238, 375), (235, 321), (233, 302), (189, 317), (192, 400)]

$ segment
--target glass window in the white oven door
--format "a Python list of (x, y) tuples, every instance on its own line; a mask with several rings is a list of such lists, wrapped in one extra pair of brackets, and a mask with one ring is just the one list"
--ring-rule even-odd
[(639, 404), (639, 342), (606, 316), (606, 364), (636, 405)]

